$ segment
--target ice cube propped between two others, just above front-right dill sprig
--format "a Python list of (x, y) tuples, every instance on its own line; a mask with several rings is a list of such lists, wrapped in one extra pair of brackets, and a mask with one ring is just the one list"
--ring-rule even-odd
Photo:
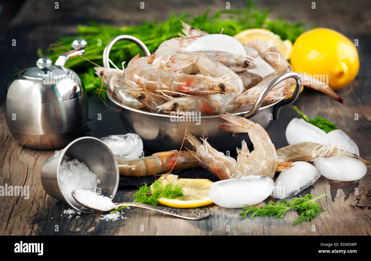
[(319, 171), (308, 162), (294, 162), (288, 170), (283, 170), (275, 182), (273, 198), (286, 198), (295, 196), (302, 190), (313, 185), (321, 176)]

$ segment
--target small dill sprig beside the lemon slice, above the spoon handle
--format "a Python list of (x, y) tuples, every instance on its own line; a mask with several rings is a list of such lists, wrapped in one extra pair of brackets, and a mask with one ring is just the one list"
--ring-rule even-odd
[[(143, 186), (140, 186), (139, 190), (134, 194), (135, 199), (133, 202), (156, 206), (159, 198), (174, 199), (183, 198), (183, 196), (183, 187), (180, 184), (170, 182), (163, 186), (162, 180), (158, 179), (152, 183), (152, 187), (146, 183), (144, 183)], [(115, 213), (116, 211), (126, 207), (127, 206), (123, 206), (111, 211), (110, 213)]]

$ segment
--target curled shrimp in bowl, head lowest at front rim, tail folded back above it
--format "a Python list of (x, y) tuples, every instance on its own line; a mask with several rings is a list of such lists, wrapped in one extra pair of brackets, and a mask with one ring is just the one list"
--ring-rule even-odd
[(234, 99), (242, 92), (243, 83), (239, 76), (229, 67), (222, 65), (202, 52), (179, 52), (177, 55), (172, 56), (170, 61), (172, 70), (183, 70), (183, 68), (195, 65), (197, 66), (197, 71), (200, 71), (203, 75), (228, 79), (228, 82), (233, 84), (237, 91), (230, 94), (190, 95), (174, 98), (159, 106), (159, 109), (200, 111), (201, 114), (211, 115), (234, 112), (241, 106), (239, 102), (234, 102)]

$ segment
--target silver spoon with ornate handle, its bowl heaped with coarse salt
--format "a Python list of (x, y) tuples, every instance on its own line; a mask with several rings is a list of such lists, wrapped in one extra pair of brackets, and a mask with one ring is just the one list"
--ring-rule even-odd
[[(173, 209), (173, 208), (162, 208), (162, 207), (158, 207), (158, 206), (151, 206), (151, 205), (147, 205), (147, 204), (134, 203), (134, 202), (115, 203), (115, 205), (110, 207), (110, 208), (97, 209), (97, 208), (93, 208), (92, 206), (86, 205), (85, 203), (79, 201), (76, 198), (76, 192), (78, 192), (79, 190), (81, 191), (81, 190), (86, 190), (86, 189), (75, 189), (75, 190), (73, 190), (72, 191), (73, 198), (77, 202), (79, 202), (81, 205), (86, 206), (86, 208), (90, 208), (90, 209), (93, 209), (93, 210), (96, 210), (96, 211), (110, 211), (112, 209), (115, 209), (115, 208), (118, 208), (118, 207), (121, 207), (121, 206), (133, 206), (133, 207), (145, 208), (145, 209), (149, 209), (149, 210), (158, 211), (158, 212), (165, 213), (165, 214), (172, 215), (172, 216), (177, 216), (178, 218), (193, 219), (193, 220), (206, 218), (207, 216), (210, 215), (210, 212), (206, 212), (206, 211), (190, 211), (190, 210), (180, 210), (180, 209)], [(97, 195), (99, 195), (99, 194), (97, 194)], [(99, 196), (103, 196), (103, 195), (99, 195)]]

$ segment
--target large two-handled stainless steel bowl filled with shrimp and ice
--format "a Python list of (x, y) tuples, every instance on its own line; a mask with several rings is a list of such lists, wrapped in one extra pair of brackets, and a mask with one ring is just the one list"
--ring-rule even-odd
[[(145, 45), (138, 39), (135, 41), (130, 36), (117, 36), (113, 38), (105, 48), (103, 63), (109, 68), (109, 50), (118, 40), (130, 40), (137, 43), (137, 45), (146, 52)], [(294, 78), (296, 80), (295, 91), (288, 99), (276, 101), (267, 106), (261, 107), (264, 98), (270, 90), (285, 79)], [(295, 72), (286, 72), (274, 79), (257, 98), (255, 105), (251, 110), (243, 111), (240, 109), (233, 114), (242, 115), (245, 118), (259, 123), (265, 129), (268, 129), (272, 124), (272, 120), (277, 120), (279, 110), (283, 105), (290, 104), (298, 98), (300, 94), (301, 85), (299, 84), (299, 75)], [(120, 103), (112, 95), (108, 95), (109, 99), (120, 107)], [(242, 107), (243, 108), (243, 107)], [(137, 133), (143, 140), (145, 147), (156, 151), (166, 151), (180, 149), (185, 133), (185, 118), (184, 116), (171, 116), (167, 114), (155, 114), (150, 111), (138, 110), (121, 104), (121, 111), (119, 112), (122, 124), (131, 133)], [(195, 120), (195, 119), (194, 119)], [(219, 151), (234, 150), (241, 146), (241, 141), (246, 140), (248, 144), (250, 140), (247, 135), (236, 135), (227, 131), (219, 130), (219, 125), (224, 123), (224, 120), (218, 115), (201, 116), (199, 124), (190, 121), (188, 123), (187, 132), (195, 137), (207, 137), (211, 146)], [(187, 143), (185, 145), (188, 145)]]

